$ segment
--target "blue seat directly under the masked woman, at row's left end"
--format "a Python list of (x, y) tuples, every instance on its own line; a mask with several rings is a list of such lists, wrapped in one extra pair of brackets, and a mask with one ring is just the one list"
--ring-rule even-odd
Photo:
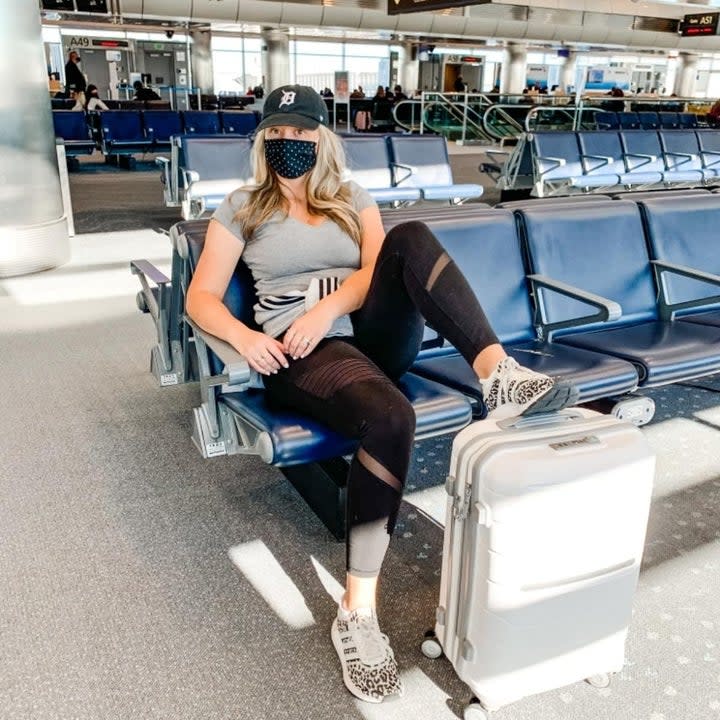
[[(202, 241), (188, 239), (183, 249), (190, 274), (202, 252)], [(254, 283), (242, 262), (224, 302), (235, 317), (254, 327)], [(231, 346), (195, 327), (193, 335), (202, 400), (194, 411), (193, 441), (203, 456), (252, 454), (283, 469), (328, 528), (342, 536), (348, 467), (344, 458), (357, 441), (304, 415), (272, 406), (262, 382)], [(468, 399), (438, 383), (406, 373), (398, 387), (415, 410), (417, 439), (456, 432), (472, 418)]]

